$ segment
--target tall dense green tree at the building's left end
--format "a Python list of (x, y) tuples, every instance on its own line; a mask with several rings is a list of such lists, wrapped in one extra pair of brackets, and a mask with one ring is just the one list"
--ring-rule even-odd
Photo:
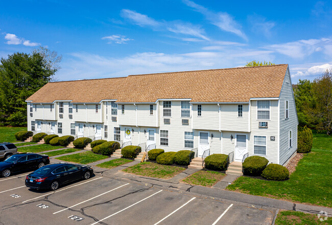
[[(56, 53), (52, 55), (57, 58)], [(46, 56), (39, 52), (14, 53), (0, 59), (0, 125), (27, 125), (25, 100), (51, 81), (59, 69), (61, 58), (55, 61)]]

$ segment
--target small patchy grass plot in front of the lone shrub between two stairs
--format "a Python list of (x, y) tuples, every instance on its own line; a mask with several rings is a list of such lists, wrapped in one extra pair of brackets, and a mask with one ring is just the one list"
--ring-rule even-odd
[(217, 171), (205, 171), (199, 170), (192, 175), (187, 176), (182, 179), (182, 182), (187, 183), (189, 185), (200, 185), (204, 187), (212, 187), (217, 182), (221, 181), (224, 178), (225, 173), (217, 172)]

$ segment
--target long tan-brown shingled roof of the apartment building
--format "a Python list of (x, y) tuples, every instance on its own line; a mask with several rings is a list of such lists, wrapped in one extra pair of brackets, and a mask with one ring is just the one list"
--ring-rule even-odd
[(288, 64), (130, 75), (122, 78), (50, 82), (27, 100), (73, 102), (155, 102), (192, 99), (192, 102), (248, 102), (250, 98), (279, 97)]

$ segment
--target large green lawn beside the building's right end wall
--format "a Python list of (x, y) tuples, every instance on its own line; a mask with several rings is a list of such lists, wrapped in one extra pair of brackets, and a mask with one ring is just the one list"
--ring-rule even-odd
[(227, 189), (252, 195), (332, 207), (332, 136), (314, 132), (312, 151), (304, 154), (287, 181), (239, 177)]

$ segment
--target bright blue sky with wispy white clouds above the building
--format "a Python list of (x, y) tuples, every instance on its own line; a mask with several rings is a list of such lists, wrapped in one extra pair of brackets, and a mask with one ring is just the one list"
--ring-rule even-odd
[(0, 57), (46, 46), (57, 80), (290, 64), (292, 81), (332, 66), (332, 1), (5, 1)]

